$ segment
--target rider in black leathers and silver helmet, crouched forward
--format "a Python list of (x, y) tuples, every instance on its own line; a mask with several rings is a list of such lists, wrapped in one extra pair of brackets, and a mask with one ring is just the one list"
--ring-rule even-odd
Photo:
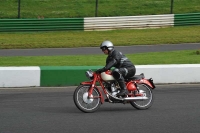
[(105, 67), (98, 69), (96, 72), (102, 73), (114, 67), (112, 75), (121, 88), (117, 96), (126, 96), (127, 88), (124, 79), (135, 75), (136, 69), (134, 64), (124, 54), (115, 50), (111, 41), (103, 41), (100, 49), (108, 56)]

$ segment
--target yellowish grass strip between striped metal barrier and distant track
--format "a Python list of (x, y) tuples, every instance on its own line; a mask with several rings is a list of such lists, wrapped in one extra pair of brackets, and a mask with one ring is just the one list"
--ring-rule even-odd
[(0, 49), (98, 47), (103, 40), (110, 40), (115, 46), (199, 43), (200, 26), (87, 32), (0, 33)]

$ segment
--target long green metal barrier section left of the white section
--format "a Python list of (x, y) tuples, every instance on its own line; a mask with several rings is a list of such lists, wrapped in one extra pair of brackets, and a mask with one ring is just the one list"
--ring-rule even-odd
[(0, 19), (0, 32), (83, 30), (83, 18)]

